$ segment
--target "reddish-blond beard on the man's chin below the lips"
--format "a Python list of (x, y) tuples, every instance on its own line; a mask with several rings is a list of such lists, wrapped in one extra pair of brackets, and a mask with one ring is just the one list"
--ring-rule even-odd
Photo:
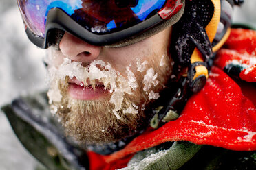
[[(125, 114), (131, 107), (131, 99), (124, 96), (122, 110), (113, 114), (114, 106), (108, 99), (96, 101), (76, 100), (65, 95), (61, 89), (63, 99), (56, 103), (57, 115), (65, 127), (67, 135), (74, 136), (79, 143), (107, 143), (120, 140), (125, 136), (134, 134), (143, 123), (144, 114)], [(138, 109), (138, 108), (137, 108)], [(120, 118), (120, 119), (118, 119)], [(140, 122), (140, 124), (138, 124)]]

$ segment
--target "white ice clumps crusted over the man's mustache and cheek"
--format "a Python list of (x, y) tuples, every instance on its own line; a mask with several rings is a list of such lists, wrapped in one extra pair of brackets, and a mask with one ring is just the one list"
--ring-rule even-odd
[[(165, 63), (163, 62), (164, 57), (165, 56), (163, 55), (160, 61), (160, 66), (166, 66), (167, 64), (166, 61)], [(142, 83), (144, 84), (143, 91), (148, 95), (148, 100), (158, 99), (159, 94), (154, 93), (153, 90), (151, 90), (151, 86), (157, 86), (159, 83), (157, 79), (158, 73), (155, 73), (153, 68), (147, 69), (149, 64), (147, 61), (141, 63), (139, 58), (136, 58), (136, 61), (137, 71), (145, 74)], [(126, 67), (127, 78), (125, 78), (120, 75), (118, 71), (113, 69), (111, 64), (106, 64), (102, 60), (94, 60), (88, 66), (83, 66), (81, 62), (72, 62), (70, 59), (64, 58), (63, 63), (58, 66), (58, 69), (54, 66), (51, 66), (48, 69), (50, 90), (47, 95), (49, 97), (49, 103), (52, 104), (52, 113), (56, 113), (58, 109), (56, 106), (54, 107), (54, 102), (61, 102), (61, 99), (63, 99), (59, 84), (67, 86), (67, 79), (76, 77), (76, 79), (83, 82), (85, 86), (87, 86), (88, 80), (92, 87), (95, 86), (96, 81), (102, 82), (105, 88), (111, 93), (109, 102), (114, 104), (112, 112), (116, 115), (117, 119), (120, 119), (120, 115), (118, 113), (122, 108), (125, 93), (128, 95), (134, 95), (133, 91), (138, 88), (136, 77), (130, 67), (131, 64)], [(122, 110), (123, 113), (138, 113), (138, 106), (136, 106), (136, 104), (126, 103), (125, 105), (126, 108), (125, 110)]]

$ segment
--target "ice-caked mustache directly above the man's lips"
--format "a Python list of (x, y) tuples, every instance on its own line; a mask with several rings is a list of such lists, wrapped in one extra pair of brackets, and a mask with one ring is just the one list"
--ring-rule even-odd
[[(127, 75), (128, 79), (120, 75), (118, 71), (112, 68), (111, 64), (105, 63), (102, 60), (94, 60), (90, 64), (83, 64), (81, 62), (72, 62), (72, 60), (65, 58), (63, 63), (58, 66), (58, 69), (52, 67), (48, 69), (49, 82), (54, 82), (57, 79), (65, 81), (67, 78), (76, 80), (83, 83), (85, 86), (96, 86), (97, 84), (102, 84), (106, 88), (110, 88), (110, 92), (114, 90), (120, 90), (120, 87), (124, 84), (120, 82), (126, 82), (127, 85), (131, 85), (133, 90), (136, 90), (138, 84), (136, 83), (136, 77), (129, 69), (130, 66), (127, 66)], [(119, 86), (118, 86), (119, 84)], [(120, 86), (122, 84), (122, 86)], [(126, 93), (131, 93), (128, 91), (128, 86), (123, 87), (126, 89)]]

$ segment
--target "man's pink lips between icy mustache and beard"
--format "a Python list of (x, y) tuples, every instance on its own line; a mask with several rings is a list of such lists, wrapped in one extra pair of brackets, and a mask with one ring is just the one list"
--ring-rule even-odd
[(73, 99), (96, 100), (109, 94), (109, 90), (105, 88), (102, 82), (95, 81), (95, 84), (92, 85), (87, 80), (86, 84), (84, 84), (74, 77), (68, 81), (67, 93)]

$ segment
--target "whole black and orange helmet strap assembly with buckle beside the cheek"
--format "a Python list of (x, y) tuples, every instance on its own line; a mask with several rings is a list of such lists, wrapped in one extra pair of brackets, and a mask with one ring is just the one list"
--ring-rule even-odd
[[(216, 4), (217, 1), (215, 0), (211, 1), (215, 3), (214, 5), (221, 5), (221, 11), (220, 9), (217, 12), (215, 11), (215, 16), (213, 16), (219, 18), (219, 20), (210, 23), (212, 24), (211, 27), (214, 26), (213, 29), (217, 29), (217, 27), (219, 29), (220, 26), (223, 26), (221, 32), (219, 30), (214, 37), (207, 34), (207, 31), (214, 32), (214, 30), (209, 30), (205, 23), (201, 22), (200, 16), (193, 16), (193, 10), (186, 12), (184, 17), (174, 25), (175, 33), (180, 28), (182, 29), (178, 31), (178, 34), (174, 34), (171, 53), (176, 56), (174, 59), (179, 66), (187, 68), (187, 76), (180, 77), (178, 86), (174, 90), (175, 93), (166, 98), (169, 99), (167, 104), (155, 110), (155, 117), (151, 119), (151, 127), (153, 128), (158, 128), (167, 121), (178, 119), (189, 97), (203, 88), (208, 78), (209, 69), (213, 64), (215, 51), (222, 47), (231, 31), (232, 14), (228, 12), (232, 12), (233, 5), (243, 3), (243, 0), (222, 0), (219, 4)], [(206, 1), (203, 3), (206, 3)], [(186, 3), (186, 6), (189, 6), (189, 4)], [(191, 6), (193, 7), (193, 3)], [(208, 12), (211, 13), (211, 10)]]

